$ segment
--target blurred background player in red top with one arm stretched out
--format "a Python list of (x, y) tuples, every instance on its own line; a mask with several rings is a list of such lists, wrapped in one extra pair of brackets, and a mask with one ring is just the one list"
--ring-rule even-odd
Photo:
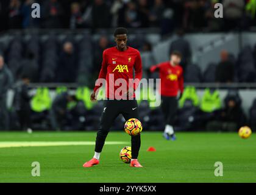
[(151, 66), (151, 73), (159, 71), (161, 86), (160, 94), (162, 99), (161, 108), (165, 116), (165, 132), (163, 133), (166, 140), (171, 137), (176, 140), (174, 134), (174, 120), (178, 109), (177, 94), (180, 92), (179, 99), (183, 93), (183, 69), (179, 65), (182, 59), (180, 52), (171, 53), (169, 62), (163, 62), (155, 66)]

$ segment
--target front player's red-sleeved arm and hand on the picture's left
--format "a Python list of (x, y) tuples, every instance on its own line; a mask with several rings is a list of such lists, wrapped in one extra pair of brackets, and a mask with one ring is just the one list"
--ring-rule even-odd
[(101, 79), (105, 79), (106, 76), (107, 76), (107, 55), (106, 55), (106, 52), (104, 51), (102, 54), (101, 71), (99, 72), (99, 77), (95, 82), (93, 93), (91, 93), (91, 97), (90, 97), (91, 101), (97, 101), (98, 89), (102, 87)]

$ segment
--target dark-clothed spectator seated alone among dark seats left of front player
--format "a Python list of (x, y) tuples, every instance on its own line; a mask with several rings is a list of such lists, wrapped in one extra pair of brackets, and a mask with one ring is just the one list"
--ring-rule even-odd
[(59, 63), (56, 69), (57, 82), (75, 82), (77, 76), (77, 61), (74, 46), (67, 41), (63, 44)]

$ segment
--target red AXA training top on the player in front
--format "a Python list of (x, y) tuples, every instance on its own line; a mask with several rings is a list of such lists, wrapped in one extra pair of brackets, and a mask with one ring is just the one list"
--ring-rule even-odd
[[(135, 70), (135, 79), (133, 82), (133, 68)], [(127, 46), (126, 51), (119, 51), (116, 47), (105, 49), (103, 52), (102, 67), (99, 73), (99, 79), (107, 80), (105, 96), (110, 99), (116, 98), (116, 94), (122, 96), (122, 91), (119, 87), (122, 86), (122, 81), (117, 79), (124, 79), (126, 82), (126, 90), (129, 87), (133, 87), (134, 90), (137, 89), (142, 77), (142, 65), (140, 52), (137, 49)], [(130, 79), (130, 80), (129, 80)], [(131, 82), (132, 79), (132, 82)], [(130, 83), (129, 83), (130, 82)], [(130, 84), (130, 86), (129, 86)], [(94, 92), (102, 86), (102, 82), (96, 81)], [(135, 98), (135, 93), (133, 93), (133, 98)]]

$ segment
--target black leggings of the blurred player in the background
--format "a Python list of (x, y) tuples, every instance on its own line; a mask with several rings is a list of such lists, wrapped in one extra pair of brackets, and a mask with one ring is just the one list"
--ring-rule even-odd
[(176, 97), (161, 96), (161, 108), (165, 116), (165, 124), (174, 125), (175, 116), (178, 110), (178, 100)]

